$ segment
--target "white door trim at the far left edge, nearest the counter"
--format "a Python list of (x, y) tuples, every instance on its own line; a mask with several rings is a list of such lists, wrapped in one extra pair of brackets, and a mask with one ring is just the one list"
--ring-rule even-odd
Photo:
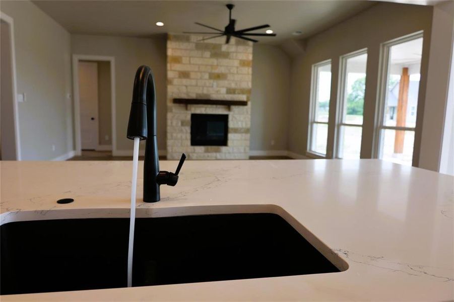
[(14, 145), (16, 151), (16, 160), (20, 161), (21, 156), (21, 141), (19, 132), (19, 108), (17, 104), (17, 74), (16, 74), (16, 49), (14, 43), (14, 20), (3, 12), (0, 12), (0, 20), (5, 21), (9, 25), (10, 30), (10, 52), (11, 52), (11, 89), (13, 101), (13, 119), (14, 119)]

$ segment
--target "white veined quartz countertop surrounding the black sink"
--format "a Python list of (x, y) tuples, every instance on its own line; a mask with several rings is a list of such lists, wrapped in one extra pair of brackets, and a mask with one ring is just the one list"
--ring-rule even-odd
[[(174, 161), (161, 170), (174, 171)], [(4, 295), (17, 300), (454, 299), (454, 178), (379, 160), (186, 161), (138, 216), (282, 208), (348, 264), (339, 273)], [(131, 162), (0, 162), (1, 223), (127, 217)], [(60, 198), (74, 198), (57, 204)]]

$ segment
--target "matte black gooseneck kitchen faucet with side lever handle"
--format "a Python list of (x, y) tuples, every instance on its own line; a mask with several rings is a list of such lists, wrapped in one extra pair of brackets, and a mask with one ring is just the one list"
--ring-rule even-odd
[[(176, 185), (178, 173), (159, 171), (158, 141), (156, 138), (156, 92), (151, 68), (142, 65), (137, 69), (134, 80), (133, 101), (127, 138), (139, 137), (146, 140), (144, 159), (144, 202), (157, 202), (161, 199), (160, 185)], [(186, 156), (180, 159), (179, 168)], [(178, 170), (179, 172), (179, 170)]]

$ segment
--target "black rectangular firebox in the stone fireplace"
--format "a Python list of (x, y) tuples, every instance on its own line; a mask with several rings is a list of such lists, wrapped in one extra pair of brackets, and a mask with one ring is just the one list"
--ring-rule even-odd
[(192, 146), (226, 146), (228, 114), (191, 114)]

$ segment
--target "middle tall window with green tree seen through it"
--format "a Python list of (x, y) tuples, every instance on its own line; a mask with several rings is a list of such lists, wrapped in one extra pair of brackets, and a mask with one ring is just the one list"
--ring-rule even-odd
[(337, 158), (359, 159), (366, 89), (367, 50), (340, 59)]

